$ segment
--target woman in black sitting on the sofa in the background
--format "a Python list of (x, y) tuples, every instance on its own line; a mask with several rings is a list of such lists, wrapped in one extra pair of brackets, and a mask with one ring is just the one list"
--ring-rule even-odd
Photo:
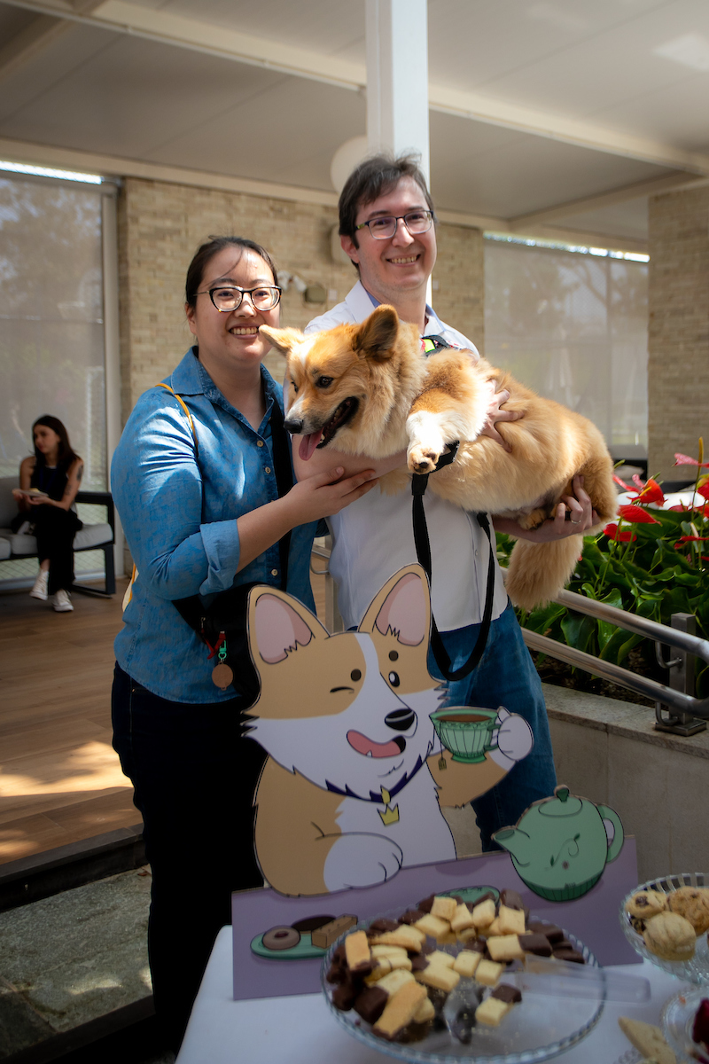
[(58, 417), (38, 417), (32, 436), (34, 455), (20, 463), (20, 486), (13, 492), (19, 509), (17, 526), (23, 517), (30, 520), (37, 539), (39, 572), (30, 595), (43, 601), (51, 595), (56, 613), (70, 613), (72, 545), (81, 528), (74, 500), (84, 463), (72, 450)]

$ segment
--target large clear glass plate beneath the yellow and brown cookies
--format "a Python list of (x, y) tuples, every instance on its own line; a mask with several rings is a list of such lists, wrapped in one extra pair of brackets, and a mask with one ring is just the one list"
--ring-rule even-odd
[[(457, 891), (456, 894), (465, 892)], [(402, 910), (396, 909), (379, 916), (396, 917)], [(378, 917), (372, 917), (377, 919)], [(537, 917), (530, 916), (530, 919)], [(366, 929), (371, 919), (362, 920), (357, 928)], [(591, 950), (575, 935), (564, 931), (567, 937), (584, 955), (587, 964), (598, 966)], [(327, 951), (323, 961), (321, 983), (323, 994), (331, 1012), (348, 1034), (365, 1043), (371, 1049), (408, 1061), (410, 1064), (539, 1064), (565, 1052), (586, 1037), (595, 1027), (603, 1012), (604, 1000), (584, 998), (557, 997), (556, 995), (528, 994), (504, 1017), (500, 1027), (477, 1025), (472, 1030), (472, 1041), (469, 1044), (459, 1042), (446, 1029), (431, 1031), (425, 1038), (415, 1043), (387, 1042), (372, 1033), (369, 1024), (365, 1023), (354, 1010), (341, 1012), (332, 1002), (333, 986), (325, 976), (333, 953), (342, 940), (338, 940)], [(437, 949), (455, 954), (458, 946), (437, 946)], [(514, 971), (508, 968), (501, 982), (514, 983)], [(475, 988), (480, 987), (473, 979), (461, 978), (458, 985), (449, 996), (444, 1014), (454, 1018), (458, 1004), (473, 1001)], [(453, 1008), (450, 1009), (449, 1007)]]

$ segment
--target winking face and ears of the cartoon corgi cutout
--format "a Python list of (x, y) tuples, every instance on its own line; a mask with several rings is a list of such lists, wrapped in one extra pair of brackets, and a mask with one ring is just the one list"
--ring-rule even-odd
[(441, 692), (426, 668), (431, 603), (420, 566), (382, 588), (357, 632), (330, 635), (297, 599), (255, 588), (249, 644), (261, 691), (252, 736), (324, 789), (381, 800), (431, 753)]

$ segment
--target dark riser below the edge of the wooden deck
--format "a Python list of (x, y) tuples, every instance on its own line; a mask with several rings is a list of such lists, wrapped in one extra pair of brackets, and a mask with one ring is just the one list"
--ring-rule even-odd
[(0, 912), (146, 864), (142, 824), (0, 865)]

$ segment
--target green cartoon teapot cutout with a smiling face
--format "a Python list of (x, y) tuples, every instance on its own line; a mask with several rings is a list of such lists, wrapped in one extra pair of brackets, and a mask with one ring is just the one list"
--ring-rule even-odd
[[(612, 825), (612, 838), (604, 821)], [(558, 786), (553, 798), (530, 805), (516, 828), (503, 828), (492, 837), (509, 852), (530, 891), (547, 901), (572, 901), (587, 894), (621, 852), (623, 825), (608, 805)]]

